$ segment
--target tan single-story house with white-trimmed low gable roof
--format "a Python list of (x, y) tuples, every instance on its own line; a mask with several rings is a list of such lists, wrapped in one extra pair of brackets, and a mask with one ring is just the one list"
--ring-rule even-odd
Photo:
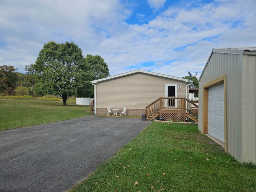
[[(171, 99), (188, 98), (191, 81), (189, 83), (189, 80), (184, 78), (134, 70), (94, 80), (92, 84), (94, 85), (94, 114), (107, 114), (107, 107), (119, 109), (119, 112), (126, 107), (127, 115), (147, 114), (147, 120), (152, 120), (159, 115), (162, 116), (159, 113), (160, 98), (163, 98), (162, 106), (166, 106), (165, 108), (169, 110), (175, 108), (177, 112), (177, 107), (181, 106), (181, 99)], [(154, 106), (149, 108), (150, 104)]]

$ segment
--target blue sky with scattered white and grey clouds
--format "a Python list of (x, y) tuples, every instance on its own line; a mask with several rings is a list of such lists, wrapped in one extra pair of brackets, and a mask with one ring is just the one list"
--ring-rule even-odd
[(100, 55), (110, 75), (198, 72), (212, 48), (256, 46), (256, 0), (0, 0), (0, 66), (18, 72), (50, 40)]

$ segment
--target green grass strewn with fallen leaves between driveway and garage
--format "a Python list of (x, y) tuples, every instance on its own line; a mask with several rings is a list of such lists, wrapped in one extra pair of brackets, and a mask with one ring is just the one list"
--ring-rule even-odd
[(69, 192), (254, 192), (255, 175), (197, 125), (152, 122)]

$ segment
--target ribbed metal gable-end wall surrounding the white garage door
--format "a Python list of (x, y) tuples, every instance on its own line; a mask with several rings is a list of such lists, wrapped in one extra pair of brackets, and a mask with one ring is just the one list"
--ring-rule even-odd
[(198, 129), (202, 132), (202, 123), (200, 123), (202, 122), (203, 106), (202, 86), (224, 74), (226, 74), (228, 153), (241, 161), (242, 55), (212, 53), (199, 81)]

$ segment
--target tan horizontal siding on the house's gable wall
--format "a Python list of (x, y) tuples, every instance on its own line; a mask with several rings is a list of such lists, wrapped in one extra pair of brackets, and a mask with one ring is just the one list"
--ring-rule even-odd
[(136, 73), (99, 82), (96, 85), (96, 113), (110, 106), (120, 111), (127, 107), (130, 115), (144, 114), (146, 106), (165, 97), (166, 84), (181, 86), (180, 90), (177, 89), (177, 96), (186, 97), (185, 82), (149, 74)]

